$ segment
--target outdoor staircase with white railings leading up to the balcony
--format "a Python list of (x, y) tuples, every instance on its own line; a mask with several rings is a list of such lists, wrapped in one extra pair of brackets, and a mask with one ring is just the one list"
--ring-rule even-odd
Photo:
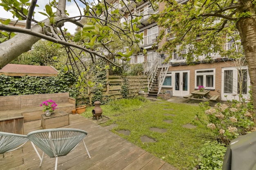
[(148, 97), (156, 98), (161, 91), (169, 66), (165, 65), (159, 67), (157, 63), (156, 66), (154, 65), (152, 68), (148, 78)]

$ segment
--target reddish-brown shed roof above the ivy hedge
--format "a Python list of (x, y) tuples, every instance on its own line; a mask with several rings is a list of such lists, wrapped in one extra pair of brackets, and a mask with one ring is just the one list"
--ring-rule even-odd
[(0, 69), (0, 75), (8, 76), (57, 76), (58, 71), (52, 66), (34, 66), (34, 65), (23, 65), (23, 64), (7, 64)]

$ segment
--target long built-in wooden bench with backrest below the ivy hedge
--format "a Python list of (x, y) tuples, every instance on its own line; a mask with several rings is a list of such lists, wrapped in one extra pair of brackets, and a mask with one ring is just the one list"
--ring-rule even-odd
[(49, 99), (58, 105), (56, 111), (72, 113), (76, 108), (76, 99), (70, 98), (69, 93), (0, 96), (0, 115), (21, 113), (24, 122), (40, 120), (43, 114), (40, 104)]

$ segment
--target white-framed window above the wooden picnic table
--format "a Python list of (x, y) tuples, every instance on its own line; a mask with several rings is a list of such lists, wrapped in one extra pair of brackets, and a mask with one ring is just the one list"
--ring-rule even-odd
[(215, 68), (195, 70), (195, 88), (204, 86), (207, 89), (215, 88)]

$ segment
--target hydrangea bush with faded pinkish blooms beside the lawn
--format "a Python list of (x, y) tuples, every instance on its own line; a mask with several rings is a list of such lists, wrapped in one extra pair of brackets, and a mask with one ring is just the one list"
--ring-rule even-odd
[(204, 102), (200, 107), (204, 115), (197, 114), (195, 119), (210, 128), (226, 146), (236, 137), (256, 130), (251, 102), (217, 103), (214, 108), (209, 106), (209, 102)]

